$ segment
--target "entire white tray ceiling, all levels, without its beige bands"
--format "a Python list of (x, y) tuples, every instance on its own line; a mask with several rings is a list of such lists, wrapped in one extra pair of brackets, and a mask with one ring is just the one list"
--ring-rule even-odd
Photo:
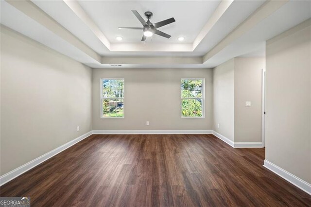
[[(79, 16), (63, 0), (33, 0), (32, 2), (38, 7), (38, 11), (43, 10), (47, 17), (56, 20), (62, 29), (68, 30), (72, 37), (80, 39), (86, 47), (91, 48), (99, 56), (116, 57), (117, 59), (113, 59), (111, 64), (120, 60), (118, 64), (125, 68), (210, 68), (235, 56), (264, 56), (267, 39), (311, 18), (311, 1), (292, 0), (288, 3), (284, 1), (284, 5), (267, 18), (228, 42), (221, 51), (207, 61), (199, 63), (193, 57), (204, 56), (223, 39), (229, 37), (230, 32), (238, 28), (250, 15), (264, 9), (262, 5), (265, 1), (234, 0), (226, 9), (223, 9), (223, 14), (194, 49), (189, 48), (198, 38), (202, 28), (208, 25), (213, 15), (217, 13), (222, 3), (220, 0), (78, 1), (78, 6), (86, 12), (90, 21), (111, 43), (110, 48), (103, 43), (98, 33), (96, 34), (89, 24), (81, 19), (81, 15)], [(174, 17), (176, 22), (159, 28), (172, 35), (172, 38), (154, 36), (152, 41), (148, 40), (144, 45), (140, 42), (140, 31), (119, 30), (118, 27), (140, 27), (140, 22), (131, 10), (138, 10), (142, 16), (144, 11), (152, 11), (154, 13), (152, 22)], [(51, 28), (39, 22), (40, 20), (35, 19), (35, 16), (29, 17), (29, 14), (27, 15), (17, 6), (1, 0), (1, 24), (90, 67), (113, 67), (110, 62), (100, 63), (99, 60), (91, 58), (81, 48), (79, 49), (68, 39), (62, 38), (60, 34), (52, 32)], [(123, 37), (123, 40), (116, 41), (116, 36)], [(186, 38), (182, 43), (177, 40), (180, 36)], [(135, 59), (128, 61), (131, 57)], [(157, 57), (159, 61), (148, 63), (144, 61), (145, 57)], [(172, 59), (168, 60), (170, 57)], [(180, 62), (175, 57), (183, 57), (185, 61)]]

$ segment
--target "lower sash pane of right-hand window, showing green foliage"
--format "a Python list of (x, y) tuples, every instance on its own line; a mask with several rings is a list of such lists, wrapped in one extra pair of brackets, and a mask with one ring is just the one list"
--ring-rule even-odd
[(203, 115), (202, 99), (181, 100), (181, 114), (185, 117), (200, 117)]

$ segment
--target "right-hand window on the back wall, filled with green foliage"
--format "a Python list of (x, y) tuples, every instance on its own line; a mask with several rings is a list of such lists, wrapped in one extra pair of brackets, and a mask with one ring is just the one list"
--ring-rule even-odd
[(204, 78), (181, 78), (181, 117), (204, 118)]

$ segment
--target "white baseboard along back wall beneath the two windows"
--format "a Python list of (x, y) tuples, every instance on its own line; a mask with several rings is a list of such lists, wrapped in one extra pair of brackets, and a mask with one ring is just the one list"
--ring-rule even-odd
[(93, 134), (211, 134), (212, 130), (93, 130)]

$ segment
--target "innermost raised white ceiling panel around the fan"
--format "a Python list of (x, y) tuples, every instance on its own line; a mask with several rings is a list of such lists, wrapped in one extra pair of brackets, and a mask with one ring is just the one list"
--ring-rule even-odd
[(142, 31), (119, 30), (118, 27), (142, 27), (131, 10), (137, 10), (140, 16), (151, 11), (150, 19), (155, 23), (169, 18), (176, 21), (159, 28), (160, 31), (172, 35), (170, 39), (154, 35), (147, 41), (157, 43), (179, 43), (178, 37), (185, 37), (185, 43), (192, 43), (204, 24), (213, 14), (220, 0), (214, 1), (79, 1), (82, 8), (94, 20), (110, 42), (140, 42)]

